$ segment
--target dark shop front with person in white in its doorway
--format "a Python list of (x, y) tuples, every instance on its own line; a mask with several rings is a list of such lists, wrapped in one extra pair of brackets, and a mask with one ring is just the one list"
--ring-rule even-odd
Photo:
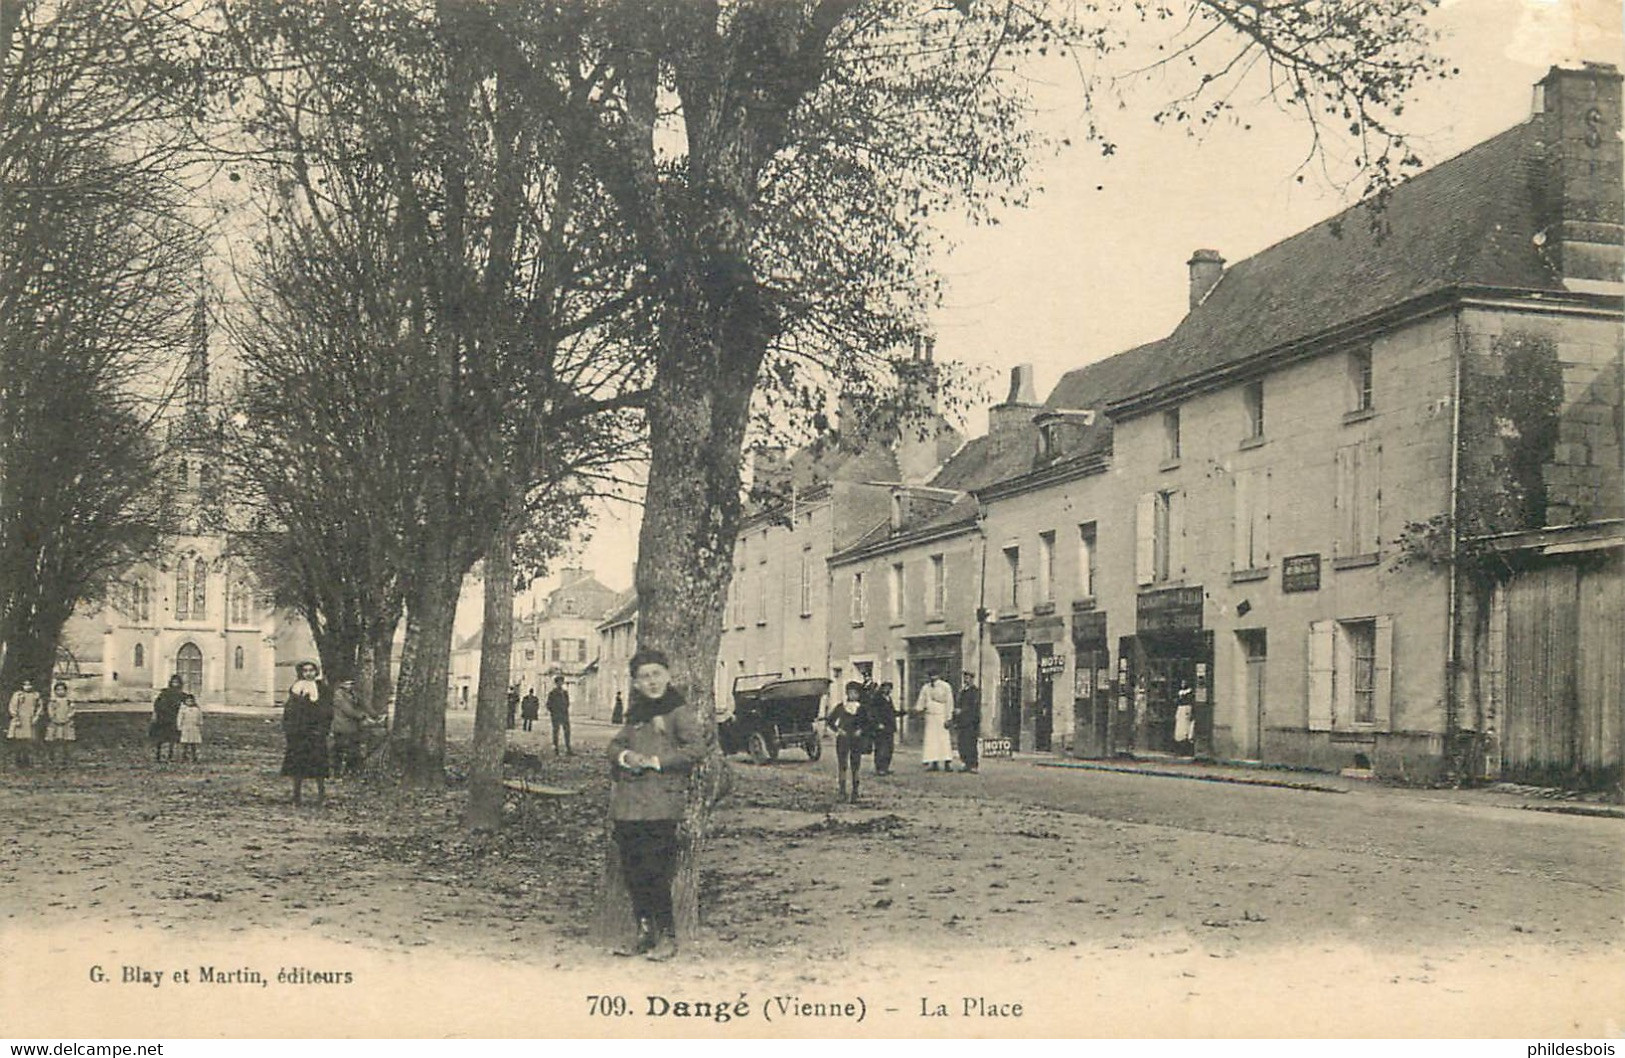
[(1129, 749), (1212, 756), (1214, 639), (1199, 587), (1141, 592), (1134, 635), (1118, 644), (1133, 713)]

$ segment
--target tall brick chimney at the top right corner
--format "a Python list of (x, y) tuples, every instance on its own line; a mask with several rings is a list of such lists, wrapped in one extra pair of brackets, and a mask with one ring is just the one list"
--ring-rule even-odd
[(1625, 280), (1620, 81), (1617, 67), (1588, 62), (1536, 85), (1536, 244), (1571, 284)]

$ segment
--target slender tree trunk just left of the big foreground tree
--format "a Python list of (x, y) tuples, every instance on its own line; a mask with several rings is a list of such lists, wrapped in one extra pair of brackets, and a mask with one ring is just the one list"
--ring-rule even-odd
[(479, 637), (479, 700), (468, 772), (468, 827), (502, 822), (502, 752), (507, 749), (507, 691), (514, 652), (514, 535), (505, 522), (486, 549), (486, 626)]

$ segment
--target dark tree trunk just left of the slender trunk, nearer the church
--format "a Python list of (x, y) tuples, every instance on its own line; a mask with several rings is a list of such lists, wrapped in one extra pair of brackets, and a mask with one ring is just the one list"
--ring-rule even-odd
[(444, 564), (424, 570), (406, 600), (406, 642), (390, 728), (390, 759), (411, 787), (445, 780), (445, 689), (462, 575)]

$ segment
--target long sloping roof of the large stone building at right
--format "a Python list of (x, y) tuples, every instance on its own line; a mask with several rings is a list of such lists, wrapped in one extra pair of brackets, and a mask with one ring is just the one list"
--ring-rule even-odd
[(1173, 333), (1068, 372), (1048, 408), (1103, 408), (1454, 286), (1563, 289), (1534, 245), (1534, 124), (1225, 268)]

